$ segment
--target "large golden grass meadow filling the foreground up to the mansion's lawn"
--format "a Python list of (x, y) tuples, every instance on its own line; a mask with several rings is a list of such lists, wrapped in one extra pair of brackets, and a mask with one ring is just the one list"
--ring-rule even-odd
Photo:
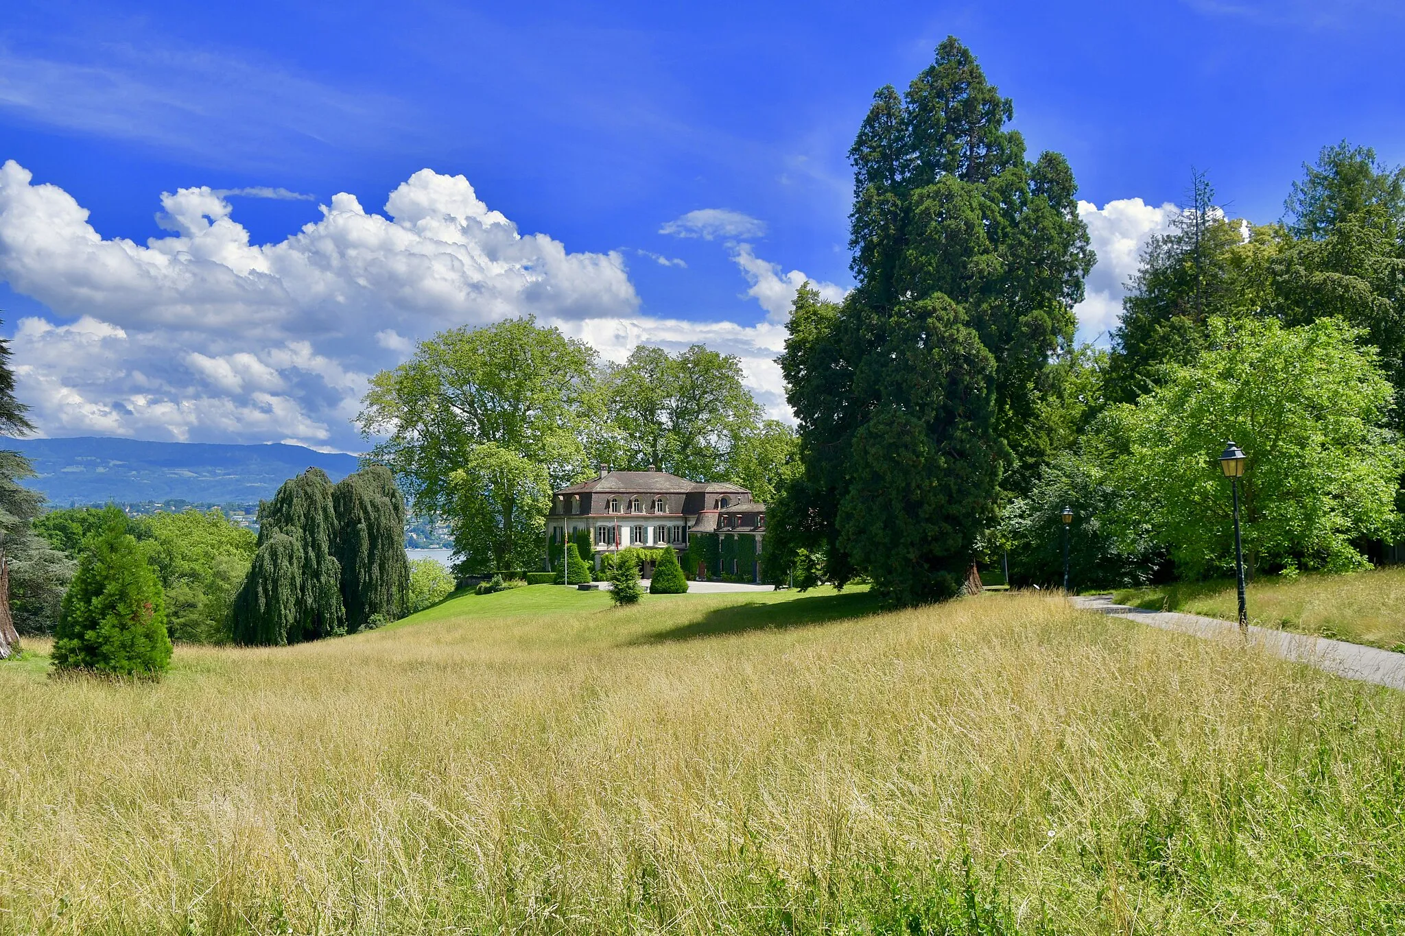
[[(1388, 932), (1405, 696), (1033, 595), (0, 665), (0, 932)], [(821, 620), (804, 626), (806, 620)]]

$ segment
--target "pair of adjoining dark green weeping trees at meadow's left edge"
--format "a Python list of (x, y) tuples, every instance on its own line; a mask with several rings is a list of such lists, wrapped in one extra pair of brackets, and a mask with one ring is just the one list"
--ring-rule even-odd
[(405, 610), (405, 498), (374, 464), (333, 487), (320, 469), (259, 505), (259, 551), (235, 599), (235, 640), (282, 646), (361, 630)]

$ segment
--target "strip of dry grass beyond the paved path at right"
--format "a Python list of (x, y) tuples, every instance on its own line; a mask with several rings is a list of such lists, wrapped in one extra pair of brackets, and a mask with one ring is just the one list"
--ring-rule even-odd
[[(1120, 591), (1114, 601), (1155, 610), (1239, 617), (1232, 581), (1161, 585)], [(1294, 581), (1262, 577), (1245, 595), (1249, 620), (1357, 644), (1405, 647), (1405, 568), (1377, 568), (1352, 575), (1302, 575)]]

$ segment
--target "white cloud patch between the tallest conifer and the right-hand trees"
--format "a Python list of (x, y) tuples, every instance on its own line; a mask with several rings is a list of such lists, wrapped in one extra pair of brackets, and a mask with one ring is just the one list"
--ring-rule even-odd
[(1078, 213), (1087, 225), (1097, 262), (1087, 275), (1085, 299), (1073, 313), (1083, 340), (1103, 344), (1123, 314), (1123, 295), (1137, 272), (1142, 248), (1154, 234), (1170, 230), (1177, 208), (1170, 202), (1156, 206), (1139, 198), (1118, 198), (1102, 208), (1079, 202)]

